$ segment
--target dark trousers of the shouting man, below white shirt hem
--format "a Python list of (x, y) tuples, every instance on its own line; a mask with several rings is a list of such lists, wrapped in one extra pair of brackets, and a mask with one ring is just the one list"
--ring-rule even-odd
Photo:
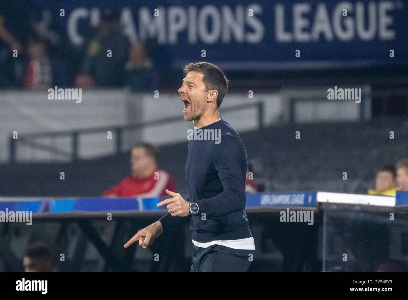
[(246, 272), (254, 253), (255, 250), (233, 249), (221, 245), (207, 248), (194, 246), (190, 272)]

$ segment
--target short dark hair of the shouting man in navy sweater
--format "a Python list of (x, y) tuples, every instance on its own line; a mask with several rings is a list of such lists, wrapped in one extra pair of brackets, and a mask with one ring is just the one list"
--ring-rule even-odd
[(196, 62), (186, 64), (183, 70), (184, 76), (186, 76), (187, 73), (191, 71), (196, 71), (204, 74), (203, 82), (206, 88), (205, 91), (209, 91), (211, 89), (216, 89), (218, 91), (217, 108), (219, 108), (228, 91), (229, 80), (225, 77), (224, 72), (215, 64), (211, 64), (210, 62)]

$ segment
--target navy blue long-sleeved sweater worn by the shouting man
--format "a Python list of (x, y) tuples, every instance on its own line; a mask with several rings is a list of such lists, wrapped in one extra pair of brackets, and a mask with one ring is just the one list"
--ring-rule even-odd
[[(188, 142), (184, 173), (188, 185), (186, 200), (196, 202), (199, 210), (197, 215), (186, 217), (172, 217), (168, 213), (160, 218), (163, 230), (190, 220), (192, 239), (197, 242), (250, 238), (244, 211), (248, 167), (244, 143), (222, 118), (194, 131), (195, 139)], [(216, 140), (202, 140), (212, 133)]]

